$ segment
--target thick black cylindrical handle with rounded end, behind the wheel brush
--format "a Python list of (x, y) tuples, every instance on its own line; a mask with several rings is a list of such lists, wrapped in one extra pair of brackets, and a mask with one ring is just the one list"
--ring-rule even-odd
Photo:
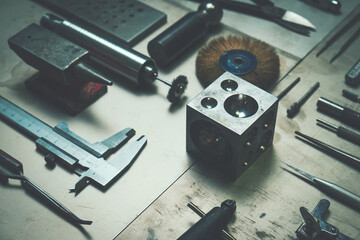
[(148, 44), (148, 52), (159, 66), (177, 58), (193, 43), (205, 36), (218, 24), (223, 11), (216, 1), (205, 1), (196, 12), (190, 12), (174, 23)]

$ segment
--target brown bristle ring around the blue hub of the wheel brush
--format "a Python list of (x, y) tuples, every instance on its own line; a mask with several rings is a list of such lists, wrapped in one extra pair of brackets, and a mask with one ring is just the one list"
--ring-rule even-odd
[(224, 73), (219, 66), (220, 56), (229, 50), (241, 49), (251, 52), (257, 59), (256, 68), (239, 77), (267, 90), (278, 79), (279, 56), (267, 43), (242, 36), (216, 37), (200, 49), (196, 58), (196, 75), (204, 87)]

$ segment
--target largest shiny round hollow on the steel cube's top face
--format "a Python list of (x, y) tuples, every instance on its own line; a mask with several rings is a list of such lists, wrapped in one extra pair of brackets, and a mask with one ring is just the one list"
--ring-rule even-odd
[(254, 115), (259, 105), (254, 98), (246, 94), (235, 94), (225, 100), (224, 108), (234, 117), (246, 118)]

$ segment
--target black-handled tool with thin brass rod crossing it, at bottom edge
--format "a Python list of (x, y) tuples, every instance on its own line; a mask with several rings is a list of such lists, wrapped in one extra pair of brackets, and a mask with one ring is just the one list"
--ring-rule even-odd
[[(196, 209), (197, 214), (203, 212), (193, 204), (188, 205), (192, 210)], [(194, 208), (195, 206), (195, 208)], [(234, 200), (225, 200), (221, 203), (221, 207), (214, 207), (207, 214), (181, 235), (178, 240), (206, 240), (213, 239), (214, 236), (222, 233), (222, 229), (228, 224), (232, 215), (236, 210), (236, 202)], [(226, 238), (223, 238), (226, 237)], [(229, 234), (222, 233), (223, 239), (234, 239)]]

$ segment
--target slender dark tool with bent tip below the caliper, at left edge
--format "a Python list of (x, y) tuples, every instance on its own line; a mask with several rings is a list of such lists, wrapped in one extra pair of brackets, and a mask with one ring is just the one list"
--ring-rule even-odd
[(82, 220), (72, 213), (68, 208), (62, 205), (49, 193), (44, 191), (41, 187), (36, 185), (33, 181), (23, 175), (22, 163), (5, 153), (0, 149), (0, 177), (3, 182), (8, 182), (8, 179), (18, 179), (21, 181), (21, 185), (27, 191), (36, 193), (42, 200), (46, 201), (51, 207), (56, 209), (58, 212), (64, 215), (67, 219), (76, 224), (87, 224), (90, 225), (92, 221)]

